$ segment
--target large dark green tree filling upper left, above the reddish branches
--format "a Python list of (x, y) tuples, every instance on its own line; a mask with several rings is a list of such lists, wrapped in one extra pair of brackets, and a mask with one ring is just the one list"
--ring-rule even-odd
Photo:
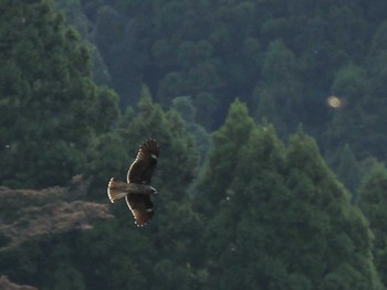
[(92, 82), (88, 46), (50, 1), (1, 6), (2, 184), (65, 184), (84, 170), (91, 136), (117, 118), (117, 97)]

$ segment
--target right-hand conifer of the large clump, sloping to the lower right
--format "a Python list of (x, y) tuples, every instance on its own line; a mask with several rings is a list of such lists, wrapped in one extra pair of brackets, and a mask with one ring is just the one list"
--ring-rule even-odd
[(284, 227), (293, 236), (289, 264), (312, 289), (384, 289), (373, 265), (366, 218), (335, 179), (311, 137), (297, 132), (287, 149), (292, 204)]

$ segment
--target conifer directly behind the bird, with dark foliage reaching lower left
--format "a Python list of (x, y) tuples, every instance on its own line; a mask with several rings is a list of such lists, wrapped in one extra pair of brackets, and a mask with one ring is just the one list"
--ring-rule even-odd
[[(188, 194), (198, 161), (195, 139), (180, 116), (163, 110), (146, 88), (117, 128), (93, 140), (88, 173), (96, 182), (87, 197), (108, 203), (108, 179), (112, 174), (126, 179), (138, 146), (147, 138), (160, 146), (151, 179), (158, 193), (151, 197), (155, 216), (149, 224), (136, 227), (125, 201), (117, 202), (111, 207), (115, 218), (93, 229), (48, 237), (50, 243), (36, 239), (23, 245), (22, 251), (3, 253), (1, 265), (7, 270), (12, 265), (8, 257), (25, 261), (13, 264), (20, 266), (9, 269), (10, 277), (20, 275), (21, 281), (35, 277), (33, 284), (42, 289), (201, 289), (206, 277), (199, 264), (201, 224)], [(40, 262), (36, 256), (43, 249), (46, 256)]]

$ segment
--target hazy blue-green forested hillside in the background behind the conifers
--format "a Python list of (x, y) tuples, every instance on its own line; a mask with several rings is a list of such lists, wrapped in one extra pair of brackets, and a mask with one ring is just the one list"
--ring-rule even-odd
[(281, 138), (302, 123), (352, 190), (372, 158), (386, 158), (383, 1), (56, 2), (95, 45), (96, 78), (123, 109), (145, 84), (164, 108), (189, 97), (212, 131), (239, 97)]

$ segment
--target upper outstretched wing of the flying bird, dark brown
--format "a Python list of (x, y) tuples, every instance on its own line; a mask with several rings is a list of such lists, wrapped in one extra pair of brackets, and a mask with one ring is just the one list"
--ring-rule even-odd
[(148, 140), (139, 147), (137, 158), (127, 172), (127, 182), (150, 183), (154, 169), (157, 165), (158, 144), (155, 140)]

